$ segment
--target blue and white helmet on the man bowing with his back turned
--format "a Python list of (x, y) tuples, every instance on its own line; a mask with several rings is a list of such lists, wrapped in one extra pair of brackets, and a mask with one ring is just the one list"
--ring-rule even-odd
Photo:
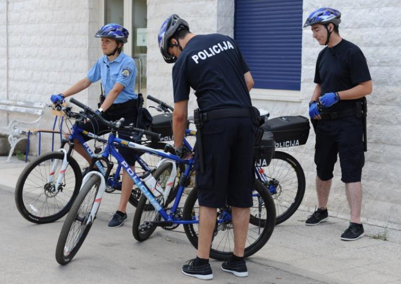
[(157, 42), (161, 55), (167, 63), (174, 63), (177, 60), (175, 56), (168, 53), (168, 46), (170, 38), (181, 29), (189, 30), (189, 25), (177, 14), (169, 15), (161, 24), (159, 34), (157, 35)]

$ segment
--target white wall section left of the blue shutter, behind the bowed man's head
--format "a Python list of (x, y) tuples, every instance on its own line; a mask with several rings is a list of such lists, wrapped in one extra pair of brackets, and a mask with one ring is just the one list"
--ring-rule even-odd
[[(176, 13), (189, 24), (191, 32), (196, 34), (225, 33), (233, 36), (234, 1), (233, 0), (148, 0), (148, 57), (147, 90), (148, 94), (173, 103), (171, 69), (157, 45), (157, 34), (164, 19)], [(197, 107), (196, 97), (192, 92), (189, 108)]]

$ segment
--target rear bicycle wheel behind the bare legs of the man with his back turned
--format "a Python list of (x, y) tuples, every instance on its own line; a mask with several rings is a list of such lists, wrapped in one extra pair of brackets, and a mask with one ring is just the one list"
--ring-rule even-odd
[[(254, 189), (256, 192), (254, 196), (254, 204), (259, 207), (259, 200), (261, 200), (261, 208), (265, 209), (266, 212), (263, 213), (265, 219), (259, 218), (260, 222), (259, 226), (255, 226), (250, 223), (248, 228), (247, 242), (245, 247), (245, 257), (249, 257), (256, 253), (259, 249), (261, 249), (266, 242), (269, 240), (270, 236), (273, 233), (275, 220), (276, 220), (276, 211), (272, 197), (267, 191), (266, 186), (256, 180)], [(260, 198), (261, 199), (260, 199)], [(186, 199), (184, 210), (183, 210), (183, 220), (192, 220), (193, 217), (198, 217), (199, 208), (196, 204), (197, 200), (197, 189), (194, 188), (189, 193), (188, 198)], [(256, 203), (255, 203), (256, 202)], [(228, 210), (229, 206), (226, 206), (224, 210)], [(218, 211), (219, 215), (219, 211)], [(219, 225), (220, 227), (220, 225)], [(234, 248), (234, 233), (232, 231), (233, 226), (232, 222), (225, 223), (222, 228), (218, 228), (217, 233), (215, 234), (212, 245), (210, 249), (210, 257), (217, 260), (226, 260), (228, 259)], [(198, 241), (198, 224), (184, 224), (184, 230), (187, 238), (190, 243), (197, 248)], [(223, 234), (222, 234), (223, 233)], [(223, 241), (224, 240), (224, 241)], [(227, 245), (228, 248), (223, 247), (222, 245)]]

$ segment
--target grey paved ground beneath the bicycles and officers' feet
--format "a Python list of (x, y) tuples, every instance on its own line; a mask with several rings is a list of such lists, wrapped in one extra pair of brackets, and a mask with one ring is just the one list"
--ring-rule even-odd
[[(31, 157), (32, 159), (32, 157)], [(183, 229), (157, 228), (144, 242), (132, 237), (135, 208), (129, 207), (122, 227), (107, 223), (119, 195), (105, 193), (85, 242), (74, 259), (59, 265), (57, 240), (64, 218), (34, 224), (18, 212), (14, 190), (25, 162), (0, 156), (0, 283), (199, 283), (181, 273), (195, 249)], [(401, 231), (364, 224), (356, 241), (342, 241), (348, 220), (329, 217), (306, 226), (310, 212), (298, 210), (275, 227), (268, 243), (247, 259), (249, 276), (236, 277), (211, 260), (217, 283), (401, 283)]]

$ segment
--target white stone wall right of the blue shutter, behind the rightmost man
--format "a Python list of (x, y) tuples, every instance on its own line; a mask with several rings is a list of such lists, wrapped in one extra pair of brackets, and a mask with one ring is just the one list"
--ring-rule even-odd
[[(401, 1), (304, 0), (304, 20), (321, 6), (341, 11), (340, 35), (361, 48), (373, 81), (373, 91), (367, 96), (368, 151), (362, 170), (362, 221), (401, 228)], [(304, 29), (302, 41), (301, 89), (306, 105), (314, 89), (315, 63), (322, 47), (312, 38), (310, 28)], [(307, 170), (303, 205), (311, 209), (316, 203), (314, 138), (311, 131), (306, 153), (299, 155)], [(332, 215), (348, 218), (345, 188), (340, 178), (337, 164), (328, 209)]]

